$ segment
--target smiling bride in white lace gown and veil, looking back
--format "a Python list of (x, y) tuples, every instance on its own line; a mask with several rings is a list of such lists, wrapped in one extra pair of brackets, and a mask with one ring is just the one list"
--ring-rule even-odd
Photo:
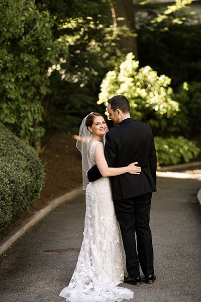
[[(107, 124), (103, 114), (92, 112), (80, 126), (76, 143), (82, 154), (86, 213), (81, 250), (76, 268), (60, 296), (70, 302), (115, 302), (133, 298), (133, 291), (119, 287), (124, 280), (123, 247), (114, 211), (109, 176), (140, 174), (132, 163), (109, 168), (104, 156)], [(97, 165), (102, 178), (87, 184), (86, 171)]]

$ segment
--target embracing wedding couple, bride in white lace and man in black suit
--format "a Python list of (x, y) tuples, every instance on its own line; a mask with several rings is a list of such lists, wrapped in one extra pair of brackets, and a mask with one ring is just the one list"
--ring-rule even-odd
[[(109, 118), (119, 126), (108, 131), (104, 115), (92, 112), (83, 119), (76, 144), (82, 154), (86, 213), (77, 265), (69, 285), (60, 292), (70, 302), (132, 298), (132, 290), (117, 285), (140, 285), (139, 266), (146, 283), (156, 278), (149, 228), (151, 197), (156, 191), (152, 130), (130, 116), (124, 96), (108, 103)], [(124, 276), (123, 246), (128, 276)]]

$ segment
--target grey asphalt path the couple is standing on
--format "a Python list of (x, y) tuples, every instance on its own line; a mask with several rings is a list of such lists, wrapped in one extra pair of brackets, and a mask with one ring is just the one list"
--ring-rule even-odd
[[(134, 291), (130, 302), (201, 301), (200, 187), (200, 180), (190, 176), (158, 178), (150, 222), (157, 279), (141, 286), (121, 284)], [(83, 196), (63, 204), (2, 255), (1, 302), (65, 301), (59, 292), (77, 262), (84, 212)]]

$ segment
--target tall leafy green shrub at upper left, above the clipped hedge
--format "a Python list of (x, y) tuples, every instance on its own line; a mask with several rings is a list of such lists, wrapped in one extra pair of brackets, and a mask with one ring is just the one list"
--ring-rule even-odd
[(31, 142), (44, 135), (41, 100), (49, 90), (46, 65), (58, 60), (58, 41), (48, 11), (34, 1), (0, 3), (0, 118)]

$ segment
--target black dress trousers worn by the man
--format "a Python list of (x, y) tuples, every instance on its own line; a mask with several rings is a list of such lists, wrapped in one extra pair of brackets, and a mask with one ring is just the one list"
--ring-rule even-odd
[(145, 193), (132, 198), (114, 200), (126, 253), (127, 271), (131, 278), (140, 276), (139, 264), (145, 276), (154, 273), (152, 237), (149, 228), (151, 197), (152, 193)]

